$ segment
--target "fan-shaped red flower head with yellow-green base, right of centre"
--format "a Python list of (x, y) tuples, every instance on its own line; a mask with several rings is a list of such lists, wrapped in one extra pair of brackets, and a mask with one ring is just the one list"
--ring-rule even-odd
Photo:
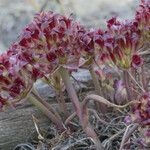
[(112, 62), (122, 69), (131, 67), (132, 55), (142, 46), (142, 34), (134, 20), (121, 22), (113, 17), (107, 21), (107, 30), (98, 30), (94, 36), (100, 58), (109, 55)]

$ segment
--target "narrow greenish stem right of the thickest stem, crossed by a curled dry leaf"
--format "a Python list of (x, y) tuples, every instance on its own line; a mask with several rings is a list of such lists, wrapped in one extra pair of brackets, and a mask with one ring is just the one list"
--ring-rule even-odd
[[(91, 74), (91, 77), (92, 77), (92, 80), (93, 80), (93, 83), (94, 83), (96, 94), (103, 96), (104, 94), (102, 93), (102, 89), (101, 89), (98, 77), (97, 77), (97, 75), (94, 71), (93, 66), (91, 66), (89, 71), (90, 71), (90, 74)], [(95, 107), (96, 107), (97, 111), (99, 111), (99, 112), (101, 111), (102, 113), (105, 113), (107, 111), (106, 105), (99, 104), (97, 102), (94, 102), (94, 104), (95, 104)]]

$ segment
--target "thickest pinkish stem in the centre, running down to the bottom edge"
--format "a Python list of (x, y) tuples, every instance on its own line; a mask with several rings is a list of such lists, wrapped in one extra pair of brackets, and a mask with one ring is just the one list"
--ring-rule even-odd
[(69, 76), (67, 69), (61, 67), (60, 74), (64, 81), (66, 90), (68, 92), (69, 97), (71, 98), (75, 112), (77, 113), (77, 116), (79, 118), (79, 121), (81, 123), (81, 126), (82, 126), (84, 132), (94, 140), (97, 150), (103, 150), (103, 147), (102, 147), (94, 129), (88, 123), (88, 115), (83, 115), (83, 110), (81, 109), (80, 101), (79, 101), (76, 91), (73, 88), (73, 85), (70, 81), (70, 76)]

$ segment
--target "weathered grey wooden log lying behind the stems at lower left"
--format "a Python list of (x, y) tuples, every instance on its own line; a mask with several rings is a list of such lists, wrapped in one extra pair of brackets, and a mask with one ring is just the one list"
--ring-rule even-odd
[[(71, 108), (70, 103), (67, 104)], [(59, 106), (52, 104), (59, 112)], [(35, 132), (32, 115), (38, 119), (40, 129), (47, 129), (51, 121), (37, 108), (28, 103), (16, 110), (0, 113), (0, 150), (12, 150), (16, 145), (25, 143)]]

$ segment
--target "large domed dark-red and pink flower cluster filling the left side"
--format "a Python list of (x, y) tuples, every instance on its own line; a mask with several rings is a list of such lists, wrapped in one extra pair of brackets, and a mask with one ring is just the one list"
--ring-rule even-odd
[(84, 33), (71, 18), (53, 12), (37, 14), (0, 56), (0, 107), (23, 99), (38, 78), (60, 65), (78, 63)]

